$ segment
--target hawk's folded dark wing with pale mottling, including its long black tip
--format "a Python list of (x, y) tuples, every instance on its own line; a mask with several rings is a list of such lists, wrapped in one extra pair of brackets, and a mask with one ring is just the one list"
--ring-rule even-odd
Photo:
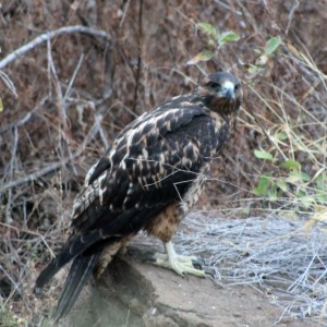
[(185, 100), (168, 102), (129, 125), (87, 174), (74, 203), (74, 233), (36, 287), (72, 258), (136, 233), (181, 201), (217, 148), (218, 132), (205, 107)]

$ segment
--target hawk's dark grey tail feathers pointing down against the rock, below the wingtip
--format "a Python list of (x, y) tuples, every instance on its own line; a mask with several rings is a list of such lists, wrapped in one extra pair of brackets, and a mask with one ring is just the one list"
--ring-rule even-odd
[(97, 252), (90, 255), (80, 255), (74, 259), (57, 307), (52, 313), (55, 323), (65, 317), (71, 311), (90, 272), (94, 270), (100, 252)]

